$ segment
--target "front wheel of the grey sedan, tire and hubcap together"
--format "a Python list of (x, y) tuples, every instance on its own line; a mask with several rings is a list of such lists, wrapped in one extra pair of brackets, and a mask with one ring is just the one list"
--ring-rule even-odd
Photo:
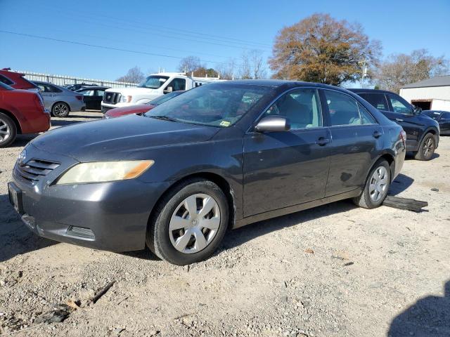
[(156, 256), (174, 265), (209, 258), (224, 238), (229, 206), (210, 180), (195, 178), (160, 201), (148, 226), (146, 243)]

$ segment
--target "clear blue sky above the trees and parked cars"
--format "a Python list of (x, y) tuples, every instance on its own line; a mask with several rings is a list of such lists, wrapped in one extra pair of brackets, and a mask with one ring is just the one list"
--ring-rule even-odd
[(116, 79), (135, 65), (174, 71), (187, 55), (214, 67), (253, 48), (269, 57), (276, 33), (313, 13), (360, 22), (384, 55), (427, 48), (450, 58), (449, 0), (0, 0), (0, 31), (146, 53), (0, 32), (0, 66), (94, 79)]

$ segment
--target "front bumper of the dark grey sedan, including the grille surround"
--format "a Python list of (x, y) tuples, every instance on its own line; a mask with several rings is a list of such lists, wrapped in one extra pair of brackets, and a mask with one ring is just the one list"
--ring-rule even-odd
[[(49, 159), (33, 145), (30, 159)], [(46, 156), (42, 158), (42, 156)], [(51, 154), (58, 168), (35, 183), (20, 176), (17, 164), (13, 185), (20, 190), (22, 220), (41, 237), (107, 251), (134, 251), (145, 247), (150, 212), (169, 183), (138, 179), (110, 183), (52, 185), (75, 159)]]

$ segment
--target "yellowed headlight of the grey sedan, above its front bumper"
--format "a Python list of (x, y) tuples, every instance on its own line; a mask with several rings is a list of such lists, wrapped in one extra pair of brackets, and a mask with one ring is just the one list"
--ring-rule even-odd
[(105, 181), (127, 180), (141, 176), (153, 160), (96, 161), (77, 164), (58, 179), (56, 185), (103, 183)]

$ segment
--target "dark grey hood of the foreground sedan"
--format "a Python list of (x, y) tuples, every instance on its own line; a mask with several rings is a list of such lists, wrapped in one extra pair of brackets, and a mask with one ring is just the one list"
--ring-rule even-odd
[(219, 128), (131, 114), (56, 128), (34, 138), (31, 144), (78, 161), (148, 159), (148, 150), (203, 142), (217, 131)]

